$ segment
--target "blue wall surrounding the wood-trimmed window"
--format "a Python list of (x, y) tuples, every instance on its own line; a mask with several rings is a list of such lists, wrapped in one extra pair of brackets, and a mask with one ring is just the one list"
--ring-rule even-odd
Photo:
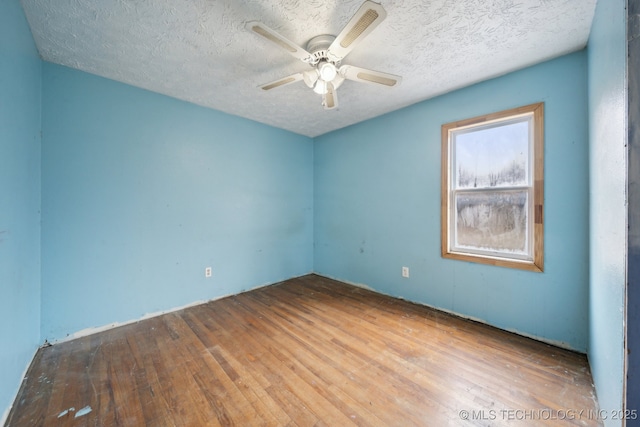
[[(586, 90), (582, 51), (317, 138), (315, 270), (585, 352)], [(443, 259), (440, 126), (539, 101), (545, 272)]]

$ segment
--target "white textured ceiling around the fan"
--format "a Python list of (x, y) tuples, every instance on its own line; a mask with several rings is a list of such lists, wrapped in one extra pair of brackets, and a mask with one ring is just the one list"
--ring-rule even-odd
[(362, 0), (22, 0), (46, 61), (317, 136), (583, 48), (596, 0), (380, 0), (387, 18), (343, 64), (397, 74), (346, 81), (324, 110), (309, 69), (245, 29), (258, 20), (306, 46), (337, 35)]

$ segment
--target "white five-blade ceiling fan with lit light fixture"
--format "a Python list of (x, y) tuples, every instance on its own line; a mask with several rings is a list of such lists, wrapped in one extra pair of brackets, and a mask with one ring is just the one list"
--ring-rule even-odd
[(307, 42), (306, 49), (289, 41), (261, 22), (247, 22), (246, 28), (264, 37), (290, 55), (313, 67), (300, 73), (261, 85), (262, 90), (271, 90), (288, 84), (304, 81), (313, 91), (322, 95), (322, 105), (331, 110), (338, 106), (337, 89), (344, 80), (396, 86), (401, 77), (380, 71), (367, 70), (340, 62), (358, 43), (373, 31), (387, 16), (382, 5), (366, 0), (338, 36), (323, 34)]

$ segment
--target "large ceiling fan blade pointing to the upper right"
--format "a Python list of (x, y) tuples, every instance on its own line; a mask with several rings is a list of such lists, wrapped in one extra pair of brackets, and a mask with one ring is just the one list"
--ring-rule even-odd
[(334, 62), (342, 60), (386, 17), (387, 12), (382, 5), (369, 0), (365, 1), (329, 46), (327, 50), (329, 58)]

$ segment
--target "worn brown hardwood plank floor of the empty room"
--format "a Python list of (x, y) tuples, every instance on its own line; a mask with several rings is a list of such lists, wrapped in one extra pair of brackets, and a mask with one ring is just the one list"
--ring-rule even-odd
[(583, 355), (310, 275), (43, 348), (7, 425), (596, 426), (597, 413)]

